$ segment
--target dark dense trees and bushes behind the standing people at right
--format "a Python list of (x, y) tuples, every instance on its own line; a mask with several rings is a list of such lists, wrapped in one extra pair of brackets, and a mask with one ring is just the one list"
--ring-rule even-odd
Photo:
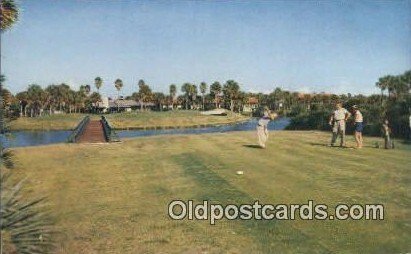
[[(347, 109), (358, 105), (364, 116), (364, 133), (379, 136), (381, 124), (388, 119), (394, 137), (410, 137), (411, 115), (411, 71), (400, 75), (387, 75), (376, 82), (381, 89), (380, 95), (339, 96), (338, 100), (344, 103)], [(289, 129), (328, 130), (328, 117), (333, 109), (333, 104), (313, 105), (311, 108), (296, 107), (292, 112)], [(348, 131), (353, 131), (353, 126), (348, 125)]]

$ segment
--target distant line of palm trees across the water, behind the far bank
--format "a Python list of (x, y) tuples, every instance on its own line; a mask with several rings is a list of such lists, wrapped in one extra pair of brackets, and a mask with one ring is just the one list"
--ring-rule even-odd
[[(4, 82), (5, 77), (1, 76), (1, 84)], [(69, 85), (61, 83), (48, 85), (45, 88), (31, 84), (25, 91), (15, 95), (2, 88), (1, 95), (8, 114), (36, 117), (44, 113), (52, 114), (55, 111), (66, 113), (93, 112), (93, 109), (102, 100), (100, 89), (103, 83), (101, 77), (96, 77), (94, 79), (96, 89), (94, 92), (90, 85), (81, 85), (78, 90), (74, 90)], [(116, 79), (113, 84), (118, 91), (118, 99), (124, 84), (121, 79)], [(317, 94), (311, 97), (311, 95), (301, 95), (298, 92), (283, 91), (280, 88), (276, 88), (270, 94), (247, 93), (241, 91), (240, 84), (235, 80), (228, 80), (225, 83), (215, 81), (211, 85), (206, 82), (201, 82), (199, 85), (187, 82), (183, 83), (180, 89), (178, 85), (171, 84), (169, 93), (164, 94), (154, 92), (141, 79), (136, 85), (136, 92), (125, 96), (124, 99), (140, 102), (141, 110), (145, 110), (146, 103), (154, 103), (157, 110), (163, 110), (163, 106), (167, 106), (167, 109), (175, 109), (179, 105), (187, 110), (225, 108), (242, 112), (244, 105), (250, 104), (250, 98), (254, 98), (254, 104), (268, 105), (276, 110), (290, 110), (293, 106), (301, 103), (305, 105), (314, 101), (329, 103), (335, 97), (338, 96)]]

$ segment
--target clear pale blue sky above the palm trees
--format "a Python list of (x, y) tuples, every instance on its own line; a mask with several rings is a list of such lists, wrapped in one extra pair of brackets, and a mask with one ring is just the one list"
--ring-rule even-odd
[(67, 83), (103, 95), (234, 79), (242, 90), (377, 93), (411, 69), (411, 1), (17, 0), (1, 34), (12, 92)]

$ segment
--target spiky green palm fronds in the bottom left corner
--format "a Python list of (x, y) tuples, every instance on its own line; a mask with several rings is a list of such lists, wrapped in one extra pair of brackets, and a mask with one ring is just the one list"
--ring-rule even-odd
[[(2, 160), (5, 153), (1, 153)], [(6, 158), (10, 160), (10, 158)], [(0, 166), (10, 167), (4, 164)], [(0, 175), (0, 230), (5, 253), (50, 253), (53, 248), (53, 223), (44, 208), (44, 198), (25, 200), (23, 181), (12, 184), (11, 173)]]

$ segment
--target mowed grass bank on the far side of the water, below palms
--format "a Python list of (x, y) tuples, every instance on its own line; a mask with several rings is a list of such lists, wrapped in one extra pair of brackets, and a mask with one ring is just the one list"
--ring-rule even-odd
[[(57, 114), (20, 117), (11, 122), (11, 130), (72, 130), (86, 114)], [(90, 115), (98, 119), (99, 115)], [(105, 115), (116, 129), (200, 127), (244, 121), (247, 117), (228, 112), (227, 116), (205, 116), (199, 111), (144, 111)]]

